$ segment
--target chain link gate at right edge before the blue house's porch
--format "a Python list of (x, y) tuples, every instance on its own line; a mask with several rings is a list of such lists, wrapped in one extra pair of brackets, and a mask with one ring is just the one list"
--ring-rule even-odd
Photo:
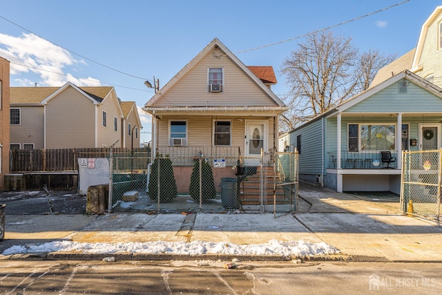
[(401, 175), (401, 212), (440, 220), (441, 150), (404, 151)]

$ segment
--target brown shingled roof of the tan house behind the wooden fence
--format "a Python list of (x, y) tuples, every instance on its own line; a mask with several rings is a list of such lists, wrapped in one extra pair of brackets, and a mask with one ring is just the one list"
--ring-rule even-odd
[(95, 104), (102, 102), (113, 89), (111, 86), (78, 87), (70, 82), (61, 87), (11, 87), (10, 104), (46, 104), (46, 102), (61, 93), (61, 91), (64, 91), (68, 86), (77, 89), (77, 91), (91, 99)]

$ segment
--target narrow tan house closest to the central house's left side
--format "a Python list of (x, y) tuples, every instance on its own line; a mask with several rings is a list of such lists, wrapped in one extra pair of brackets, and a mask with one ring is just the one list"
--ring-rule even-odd
[[(140, 147), (140, 131), (142, 129), (140, 115), (135, 102), (120, 102), (122, 107), (122, 146)], [(115, 120), (115, 118), (114, 118)]]

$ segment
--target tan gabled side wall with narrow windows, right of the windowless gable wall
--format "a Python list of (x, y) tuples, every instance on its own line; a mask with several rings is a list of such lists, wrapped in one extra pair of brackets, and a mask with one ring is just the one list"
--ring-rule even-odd
[[(117, 140), (120, 139), (121, 133), (119, 131), (115, 131), (113, 118), (117, 117), (120, 119), (119, 114), (119, 106), (117, 105), (117, 99), (114, 97), (113, 93), (109, 93), (109, 95), (104, 99), (102, 104), (98, 106), (97, 111), (97, 147), (111, 146), (115, 144)], [(103, 111), (106, 112), (106, 127), (103, 126)], [(121, 146), (121, 142), (117, 142), (115, 147)]]

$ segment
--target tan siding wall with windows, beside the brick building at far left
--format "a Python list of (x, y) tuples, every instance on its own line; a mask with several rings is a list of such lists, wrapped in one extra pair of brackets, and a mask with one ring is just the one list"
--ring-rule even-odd
[(20, 109), (20, 125), (10, 126), (10, 142), (34, 144), (34, 149), (44, 149), (44, 106), (11, 106)]

